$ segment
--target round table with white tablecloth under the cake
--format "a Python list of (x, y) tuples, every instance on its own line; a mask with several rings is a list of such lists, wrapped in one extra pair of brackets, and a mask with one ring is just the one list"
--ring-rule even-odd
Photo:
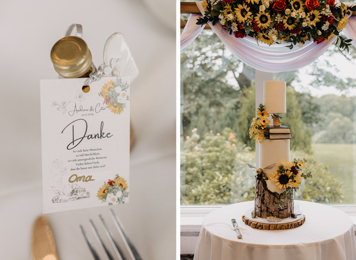
[[(335, 260), (356, 259), (353, 225), (344, 212), (326, 205), (294, 201), (306, 216), (302, 226), (290, 230), (256, 230), (241, 216), (254, 202), (242, 202), (219, 208), (203, 221), (194, 260)], [(242, 238), (229, 228), (236, 219)], [(224, 225), (224, 223), (228, 225)]]

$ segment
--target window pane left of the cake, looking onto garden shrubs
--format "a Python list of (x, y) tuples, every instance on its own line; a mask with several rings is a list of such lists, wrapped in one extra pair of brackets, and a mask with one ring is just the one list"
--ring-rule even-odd
[(181, 53), (182, 205), (251, 200), (255, 71), (210, 30)]

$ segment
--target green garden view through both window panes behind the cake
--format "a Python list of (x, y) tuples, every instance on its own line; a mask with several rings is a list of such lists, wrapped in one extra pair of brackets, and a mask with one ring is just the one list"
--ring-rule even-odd
[[(287, 83), (291, 159), (306, 158), (313, 179), (295, 199), (354, 204), (356, 51), (333, 45), (299, 71), (276, 73)], [(210, 30), (181, 52), (182, 205), (224, 205), (253, 200), (255, 70), (225, 49)], [(355, 114), (356, 115), (356, 114)], [(356, 171), (355, 171), (356, 173)]]

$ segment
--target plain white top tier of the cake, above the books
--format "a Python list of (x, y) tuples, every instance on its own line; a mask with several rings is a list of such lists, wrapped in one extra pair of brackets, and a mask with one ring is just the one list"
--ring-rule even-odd
[(269, 114), (287, 113), (284, 81), (263, 82), (263, 105), (265, 111)]

